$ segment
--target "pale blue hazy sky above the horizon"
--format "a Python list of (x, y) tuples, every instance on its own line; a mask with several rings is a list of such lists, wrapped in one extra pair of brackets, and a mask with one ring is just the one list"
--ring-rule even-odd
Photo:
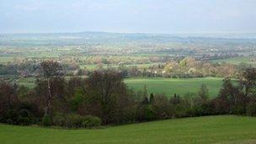
[(256, 0), (0, 0), (0, 33), (256, 32)]

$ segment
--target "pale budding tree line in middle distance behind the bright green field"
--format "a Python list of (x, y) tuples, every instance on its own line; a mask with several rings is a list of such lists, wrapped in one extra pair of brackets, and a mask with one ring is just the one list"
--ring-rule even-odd
[[(93, 57), (93, 56), (92, 56)], [(126, 57), (128, 59), (129, 57)], [(148, 58), (148, 57), (147, 57)], [(122, 58), (120, 58), (121, 60)], [(137, 58), (140, 60), (141, 58)], [(152, 61), (154, 58), (151, 58)], [(175, 60), (167, 59), (164, 62), (153, 63), (152, 61), (141, 61), (136, 63), (136, 59), (131, 59), (133, 63), (113, 62), (99, 63), (89, 68), (85, 65), (80, 67), (77, 61), (73, 59), (61, 59), (62, 71), (67, 76), (88, 76), (93, 70), (115, 68), (120, 71), (124, 77), (239, 77), (240, 70), (248, 67), (246, 64), (234, 65), (228, 63), (211, 63), (209, 61), (200, 61), (192, 57), (180, 57)], [(5, 79), (15, 79), (15, 77), (36, 77), (40, 75), (40, 63), (44, 60), (28, 59), (24, 61), (9, 62), (0, 64), (1, 77)], [(59, 61), (59, 60), (58, 60)], [(136, 64), (141, 64), (136, 66)], [(144, 65), (146, 64), (146, 65)], [(7, 76), (7, 77), (5, 77)]]

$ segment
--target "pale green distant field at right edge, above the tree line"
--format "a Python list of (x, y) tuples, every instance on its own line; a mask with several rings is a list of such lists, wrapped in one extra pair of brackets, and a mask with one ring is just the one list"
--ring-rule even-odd
[(232, 57), (232, 58), (221, 59), (221, 60), (213, 60), (212, 62), (214, 62), (214, 63), (227, 62), (227, 63), (231, 63), (231, 64), (235, 64), (235, 65), (238, 65), (241, 63), (256, 65), (255, 57), (253, 57), (253, 56)]

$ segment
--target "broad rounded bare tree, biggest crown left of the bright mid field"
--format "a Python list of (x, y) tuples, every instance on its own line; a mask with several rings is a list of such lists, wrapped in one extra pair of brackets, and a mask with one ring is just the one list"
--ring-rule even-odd
[[(85, 103), (97, 106), (88, 114), (100, 116), (104, 124), (122, 119), (124, 109), (129, 104), (127, 90), (120, 72), (114, 70), (99, 70), (93, 72), (87, 81), (87, 100)], [(93, 113), (92, 113), (93, 112)]]

